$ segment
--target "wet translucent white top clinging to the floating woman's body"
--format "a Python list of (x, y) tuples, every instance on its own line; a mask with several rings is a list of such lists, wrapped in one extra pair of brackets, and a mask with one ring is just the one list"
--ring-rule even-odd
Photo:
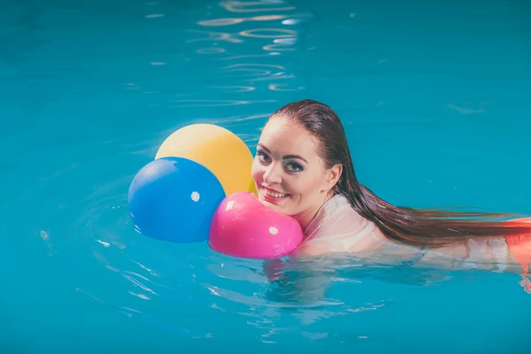
[[(481, 267), (503, 271), (509, 252), (504, 237), (471, 239), (462, 245), (435, 250), (394, 242), (372, 221), (358, 214), (342, 195), (333, 196), (321, 206), (304, 235), (306, 238), (299, 250), (307, 255), (342, 254), (377, 262), (436, 264), (450, 269)], [(478, 266), (478, 263), (485, 264)]]

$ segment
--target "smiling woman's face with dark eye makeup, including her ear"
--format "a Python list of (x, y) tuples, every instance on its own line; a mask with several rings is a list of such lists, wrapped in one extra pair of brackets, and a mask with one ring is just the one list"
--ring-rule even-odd
[(251, 168), (258, 199), (295, 217), (303, 228), (341, 175), (340, 165), (327, 170), (318, 147), (319, 141), (304, 127), (273, 118), (262, 131)]

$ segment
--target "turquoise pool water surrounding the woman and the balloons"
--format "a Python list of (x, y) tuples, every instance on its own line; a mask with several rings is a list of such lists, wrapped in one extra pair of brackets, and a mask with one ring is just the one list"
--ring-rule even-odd
[(254, 151), (282, 104), (330, 104), (394, 204), (531, 214), (521, 1), (3, 1), (4, 352), (528, 352), (514, 274), (313, 269), (134, 231), (127, 188), (196, 122)]

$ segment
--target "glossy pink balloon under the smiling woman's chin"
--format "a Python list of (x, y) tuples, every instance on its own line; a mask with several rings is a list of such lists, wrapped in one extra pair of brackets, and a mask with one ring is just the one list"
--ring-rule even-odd
[(219, 204), (209, 235), (212, 250), (240, 258), (282, 258), (301, 242), (296, 219), (273, 211), (250, 192), (236, 192)]

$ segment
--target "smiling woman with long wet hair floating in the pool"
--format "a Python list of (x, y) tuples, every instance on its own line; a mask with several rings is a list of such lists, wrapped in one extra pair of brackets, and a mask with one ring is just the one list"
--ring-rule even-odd
[(353, 255), (517, 272), (531, 292), (531, 218), (494, 221), (479, 218), (511, 215), (386, 203), (358, 182), (342, 123), (326, 104), (303, 100), (274, 112), (260, 136), (252, 176), (259, 200), (303, 228), (297, 258)]

